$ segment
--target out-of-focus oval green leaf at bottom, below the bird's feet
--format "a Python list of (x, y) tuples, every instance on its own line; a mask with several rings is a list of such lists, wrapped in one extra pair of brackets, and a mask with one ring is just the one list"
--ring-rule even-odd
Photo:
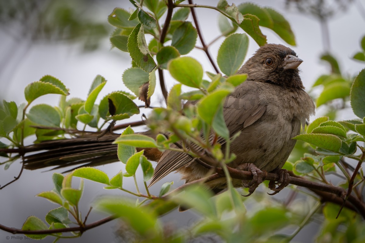
[(284, 208), (265, 207), (256, 212), (247, 223), (252, 227), (253, 232), (262, 234), (268, 230), (274, 231), (286, 226), (289, 218)]

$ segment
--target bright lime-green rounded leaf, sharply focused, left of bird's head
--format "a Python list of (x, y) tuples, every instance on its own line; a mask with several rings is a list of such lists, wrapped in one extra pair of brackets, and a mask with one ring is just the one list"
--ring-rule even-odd
[(183, 56), (173, 59), (168, 64), (171, 76), (183, 85), (200, 88), (203, 82), (203, 68), (194, 58)]

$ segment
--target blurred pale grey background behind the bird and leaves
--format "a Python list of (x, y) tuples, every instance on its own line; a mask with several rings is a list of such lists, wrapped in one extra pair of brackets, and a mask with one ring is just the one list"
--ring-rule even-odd
[[(228, 1), (229, 4), (232, 2), (239, 5), (245, 1)], [(195, 0), (194, 3), (216, 5), (218, 0)], [(297, 46), (292, 48), (304, 60), (300, 69), (307, 90), (320, 75), (330, 71), (328, 63), (320, 60), (320, 56), (326, 52), (337, 58), (343, 75), (353, 77), (364, 68), (363, 63), (352, 59), (352, 56), (360, 50), (360, 40), (365, 35), (364, 0), (256, 0), (255, 4), (272, 7), (291, 24), (297, 43)], [(108, 81), (99, 94), (99, 101), (112, 91), (127, 90), (122, 82), (122, 74), (131, 67), (130, 56), (116, 48), (111, 49), (109, 41), (112, 27), (108, 24), (107, 16), (115, 7), (129, 9), (133, 6), (128, 0), (0, 0), (1, 100), (15, 101), (17, 105), (23, 103), (24, 88), (44, 75), (52, 75), (61, 80), (69, 88), (70, 97), (85, 99), (93, 79), (98, 74)], [(209, 43), (220, 35), (217, 23), (219, 13), (206, 8), (197, 8), (196, 12), (204, 39)], [(267, 35), (269, 43), (285, 44), (273, 31), (264, 27), (261, 27), (261, 30)], [(214, 58), (222, 41), (223, 38), (220, 38), (209, 49)], [(199, 40), (196, 46), (201, 46)], [(257, 48), (258, 45), (250, 39), (246, 58), (249, 58)], [(214, 72), (203, 51), (195, 49), (189, 56), (199, 60), (205, 71)], [(166, 79), (169, 90), (174, 81), (167, 74)], [(45, 95), (37, 99), (34, 104), (57, 105), (58, 98), (57, 95)], [(156, 92), (151, 98), (151, 106), (161, 105), (162, 100), (161, 91), (156, 87)], [(142, 105), (142, 102), (138, 104)], [(319, 109), (317, 115), (321, 116), (325, 112)], [(141, 109), (142, 113), (148, 115), (149, 110)], [(140, 120), (141, 114), (134, 115), (128, 121)], [(339, 116), (353, 118), (351, 108), (342, 109)], [(143, 129), (142, 126), (135, 131)], [(32, 140), (27, 142), (30, 143)], [(20, 167), (20, 163), (14, 163), (6, 171), (1, 167), (0, 185), (17, 176)], [(123, 165), (114, 163), (99, 168), (111, 177), (123, 169)], [(53, 188), (52, 173), (46, 169), (24, 171), (18, 181), (1, 190), (0, 224), (21, 228), (30, 215), (44, 219), (46, 213), (55, 208), (55, 205), (34, 196)], [(161, 184), (172, 180), (175, 181), (173, 187), (182, 184), (178, 181), (178, 175), (172, 174), (154, 185), (151, 192), (158, 194)], [(124, 183), (130, 183), (127, 187), (133, 190), (131, 178), (126, 178)], [(78, 181), (75, 181), (74, 187), (77, 186)], [(85, 191), (80, 202), (83, 215), (87, 213), (96, 197), (110, 194), (120, 194), (120, 192), (105, 191), (100, 184), (85, 181)], [(285, 195), (283, 192), (278, 197)], [(93, 211), (88, 222), (91, 223), (103, 216)], [(192, 210), (184, 213), (175, 211), (163, 217), (163, 221), (181, 227), (191, 225), (196, 217), (199, 216)], [(306, 242), (308, 235), (314, 235), (317, 227), (316, 224), (307, 226), (295, 240)], [(118, 224), (110, 222), (85, 232), (81, 238), (61, 239), (59, 242), (120, 242), (121, 239), (115, 234), (117, 230)], [(6, 240), (6, 236), (12, 235), (0, 231), (0, 242), (18, 242), (15, 239)], [(47, 237), (43, 242), (51, 240)]]

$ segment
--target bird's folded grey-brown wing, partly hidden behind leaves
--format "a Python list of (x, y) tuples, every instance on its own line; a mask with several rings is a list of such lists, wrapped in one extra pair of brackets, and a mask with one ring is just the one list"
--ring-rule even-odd
[[(228, 130), (230, 131), (230, 136), (252, 125), (265, 113), (266, 106), (260, 104), (258, 93), (258, 86), (255, 85), (255, 82), (246, 81), (226, 98), (223, 106), (223, 114)], [(213, 137), (211, 137), (212, 139)], [(223, 145), (225, 140), (220, 137), (218, 142)], [(175, 145), (172, 146), (176, 147)], [(198, 145), (193, 146), (199, 152), (203, 152), (203, 149)], [(162, 153), (160, 161), (158, 161), (149, 186), (192, 161), (193, 159), (186, 153), (171, 150), (165, 151)]]

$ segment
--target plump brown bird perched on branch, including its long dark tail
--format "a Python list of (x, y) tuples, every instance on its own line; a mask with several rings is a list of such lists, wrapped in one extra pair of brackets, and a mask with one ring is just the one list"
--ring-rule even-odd
[[(302, 62), (291, 48), (283, 45), (260, 47), (237, 72), (246, 73), (247, 80), (237, 86), (224, 102), (223, 115), (231, 136), (241, 131), (230, 145), (230, 151), (237, 158), (228, 166), (253, 173), (255, 180), (243, 183), (250, 187), (250, 193), (262, 181), (261, 170), (280, 174), (277, 188), (275, 183), (269, 184), (275, 192), (287, 185), (287, 172), (281, 168), (295, 145), (296, 140), (292, 138), (300, 133), (300, 127), (304, 127), (306, 120), (315, 113), (314, 103), (304, 91), (297, 69)], [(25, 168), (52, 165), (59, 168), (81, 163), (100, 165), (117, 161), (116, 145), (111, 144), (117, 136), (76, 138), (48, 142), (49, 145), (41, 143), (43, 149), (49, 150), (26, 156)], [(218, 142), (224, 151), (224, 139), (218, 138)], [(54, 147), (56, 144), (57, 148)], [(173, 171), (179, 172), (186, 182), (207, 175), (208, 169), (185, 153), (171, 150), (162, 154), (158, 150), (147, 150), (146, 153), (151, 160), (158, 160), (150, 185)], [(242, 186), (240, 180), (233, 180), (233, 183), (235, 187)], [(226, 188), (226, 180), (211, 181), (208, 187), (218, 193)]]

